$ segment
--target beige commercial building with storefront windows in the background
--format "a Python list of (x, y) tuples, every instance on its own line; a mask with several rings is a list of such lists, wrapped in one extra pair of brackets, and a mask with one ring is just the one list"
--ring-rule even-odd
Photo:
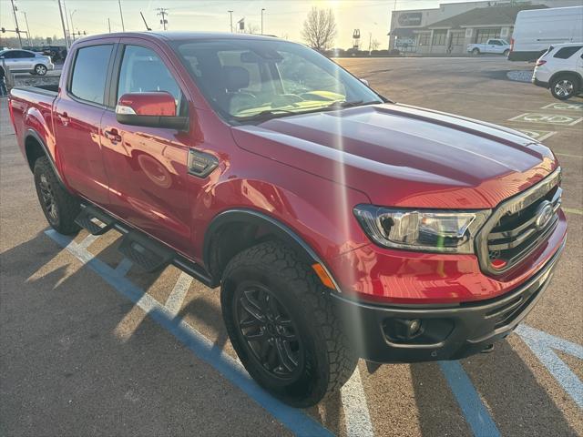
[(580, 5), (581, 0), (477, 1), (393, 11), (389, 48), (419, 55), (462, 55), (468, 44), (510, 41), (518, 12)]

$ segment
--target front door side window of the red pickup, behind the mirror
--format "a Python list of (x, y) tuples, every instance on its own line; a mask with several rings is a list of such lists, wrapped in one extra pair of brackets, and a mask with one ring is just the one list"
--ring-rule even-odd
[(177, 107), (180, 105), (179, 85), (159, 56), (149, 48), (126, 46), (119, 70), (118, 100), (126, 93), (148, 91), (167, 91), (174, 97)]

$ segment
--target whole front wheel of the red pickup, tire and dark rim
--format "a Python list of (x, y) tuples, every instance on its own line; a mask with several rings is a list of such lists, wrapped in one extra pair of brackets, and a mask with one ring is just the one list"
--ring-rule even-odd
[(292, 249), (265, 242), (242, 251), (220, 293), (230, 341), (251, 377), (294, 407), (339, 390), (358, 357), (310, 266)]

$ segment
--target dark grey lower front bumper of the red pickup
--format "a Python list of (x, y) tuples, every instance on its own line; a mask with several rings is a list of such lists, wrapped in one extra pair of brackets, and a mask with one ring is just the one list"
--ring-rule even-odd
[[(517, 289), (491, 300), (456, 306), (381, 306), (332, 294), (360, 356), (375, 362), (457, 360), (505, 338), (540, 299), (553, 276), (563, 242), (537, 274)], [(404, 325), (419, 320), (407, 338)], [(410, 333), (410, 332), (409, 332)]]

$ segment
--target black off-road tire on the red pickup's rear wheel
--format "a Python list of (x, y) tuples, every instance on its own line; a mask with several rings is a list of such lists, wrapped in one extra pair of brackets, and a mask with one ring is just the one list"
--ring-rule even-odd
[[(48, 224), (60, 234), (71, 235), (77, 233), (80, 229), (77, 223), (75, 223), (75, 219), (80, 212), (78, 199), (61, 185), (58, 178), (56, 178), (55, 171), (48, 158), (41, 157), (36, 159), (34, 172), (36, 195), (38, 196), (41, 208), (43, 208)], [(56, 217), (49, 213), (49, 207), (43, 198), (42, 190), (46, 184), (54, 199)]]

